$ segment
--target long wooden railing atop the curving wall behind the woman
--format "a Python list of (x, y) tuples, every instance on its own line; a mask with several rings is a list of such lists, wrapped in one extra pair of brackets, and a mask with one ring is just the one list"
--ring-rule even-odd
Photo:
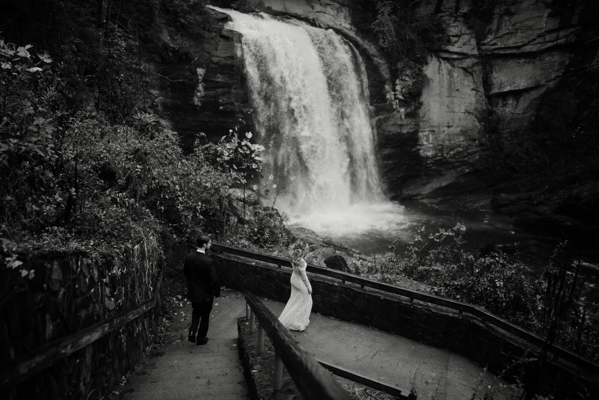
[[(239, 249), (237, 247), (227, 246), (220, 243), (213, 243), (211, 250), (291, 268), (291, 262), (288, 259), (272, 256), (271, 254), (262, 253), (259, 251)], [(507, 320), (496, 316), (495, 314), (489, 313), (489, 311), (485, 310), (484, 307), (480, 307), (479, 305), (468, 304), (437, 295), (431, 295), (430, 293), (419, 292), (418, 290), (408, 289), (406, 287), (394, 286), (388, 283), (382, 283), (372, 279), (359, 277), (357, 275), (348, 274), (347, 272), (337, 271), (336, 269), (322, 268), (316, 265), (308, 265), (306, 271), (312, 272), (313, 274), (339, 279), (343, 282), (359, 284), (362, 288), (371, 287), (373, 289), (381, 290), (382, 292), (405, 296), (409, 298), (410, 301), (416, 299), (429, 304), (450, 308), (451, 310), (459, 311), (459, 313), (471, 314), (473, 316), (479, 317), (483, 320), (483, 322), (495, 325), (498, 328), (507, 331), (509, 334), (524, 339), (534, 346), (541, 347), (541, 349), (547, 349), (556, 356), (561, 357), (562, 359), (567, 360), (568, 362), (571, 362), (580, 368), (586, 369), (586, 371), (592, 372), (595, 375), (599, 375), (599, 365), (597, 365), (597, 363), (585, 359), (579, 354), (573, 353), (570, 350), (564, 349), (564, 347), (549, 343), (547, 342), (546, 338), (543, 338), (537, 334), (533, 334), (533, 332), (528, 331), (527, 329), (521, 328), (518, 325), (514, 325), (513, 323), (510, 323)]]

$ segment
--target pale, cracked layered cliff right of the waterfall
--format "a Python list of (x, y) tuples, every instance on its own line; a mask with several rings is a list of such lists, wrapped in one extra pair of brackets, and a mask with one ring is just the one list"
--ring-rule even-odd
[[(488, 7), (485, 14), (481, 4)], [(447, 196), (447, 190), (437, 189), (459, 183), (471, 171), (486, 118), (494, 117), (492, 128), (500, 132), (526, 129), (544, 93), (564, 74), (597, 68), (595, 8), (591, 1), (420, 2), (419, 16), (436, 14), (448, 40), (423, 66), (426, 81), (415, 115), (404, 119), (394, 113), (379, 120), (392, 196)], [(404, 147), (410, 144), (408, 152)], [(477, 182), (470, 189), (480, 187)]]

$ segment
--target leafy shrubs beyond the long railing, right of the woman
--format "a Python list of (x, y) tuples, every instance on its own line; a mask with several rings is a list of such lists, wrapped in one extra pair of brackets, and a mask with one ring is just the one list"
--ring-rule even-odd
[(573, 259), (568, 243), (556, 249), (546, 271), (531, 281), (527, 266), (504, 254), (475, 256), (461, 249), (465, 230), (458, 223), (427, 235), (422, 226), (405, 254), (395, 253), (395, 241), (392, 251), (356, 267), (386, 283), (419, 281), (431, 293), (481, 305), (550, 343), (598, 359), (599, 310), (579, 282), (580, 260)]

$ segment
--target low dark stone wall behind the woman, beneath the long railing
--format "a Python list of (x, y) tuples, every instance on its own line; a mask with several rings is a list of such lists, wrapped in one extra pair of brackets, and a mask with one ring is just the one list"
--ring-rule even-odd
[[(216, 254), (215, 254), (216, 255)], [(287, 302), (291, 293), (291, 268), (222, 254), (217, 272), (224, 286), (249, 290), (256, 296)], [(392, 293), (310, 274), (312, 311), (326, 316), (372, 326), (392, 334), (443, 347), (485, 365), (507, 380), (518, 375), (527, 382), (537, 378), (537, 362), (526, 362), (540, 354), (531, 346), (469, 314), (438, 307)], [(552, 358), (552, 356), (550, 357)], [(599, 398), (599, 378), (577, 371), (562, 360), (546, 360), (540, 377), (544, 387), (553, 387), (556, 398), (578, 398), (579, 391)], [(539, 382), (537, 382), (539, 383)], [(595, 396), (597, 395), (597, 396)]]

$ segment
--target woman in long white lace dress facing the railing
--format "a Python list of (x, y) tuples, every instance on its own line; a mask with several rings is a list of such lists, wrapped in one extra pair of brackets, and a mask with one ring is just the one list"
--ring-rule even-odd
[(303, 239), (295, 241), (291, 253), (291, 264), (294, 272), (291, 274), (291, 297), (285, 305), (285, 310), (279, 316), (280, 322), (290, 331), (303, 331), (310, 323), (312, 310), (312, 286), (305, 275), (305, 254), (308, 244)]

